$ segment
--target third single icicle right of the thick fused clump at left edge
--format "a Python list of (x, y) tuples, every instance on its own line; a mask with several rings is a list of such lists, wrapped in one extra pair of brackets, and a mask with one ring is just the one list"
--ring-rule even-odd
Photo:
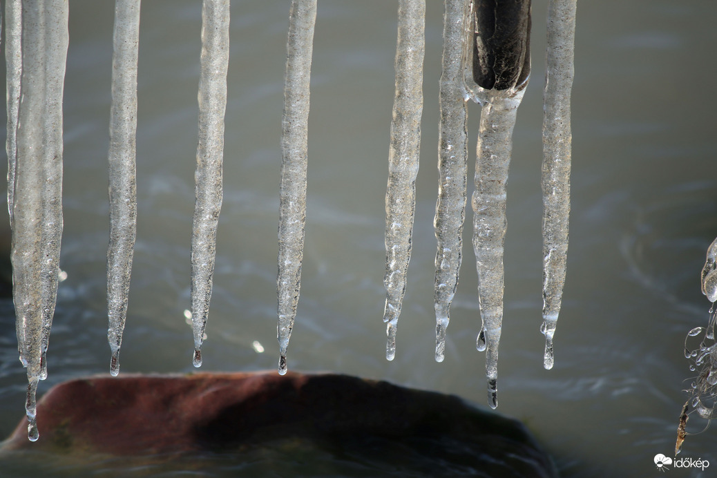
[(287, 371), (286, 351), (294, 328), (301, 287), (306, 219), (309, 83), (316, 0), (293, 0), (289, 14), (282, 120), (282, 162), (277, 276), (278, 371)]

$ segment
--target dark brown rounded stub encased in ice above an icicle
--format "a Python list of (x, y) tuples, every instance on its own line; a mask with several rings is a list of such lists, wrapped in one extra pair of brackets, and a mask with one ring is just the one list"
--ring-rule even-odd
[(474, 0), (473, 80), (508, 90), (531, 73), (531, 0)]

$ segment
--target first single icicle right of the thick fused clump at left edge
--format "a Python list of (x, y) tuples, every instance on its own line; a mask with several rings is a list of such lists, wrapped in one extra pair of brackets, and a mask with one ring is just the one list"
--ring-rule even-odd
[(107, 338), (110, 373), (120, 373), (132, 257), (137, 234), (136, 131), (140, 0), (115, 1), (110, 106), (110, 243), (107, 249)]

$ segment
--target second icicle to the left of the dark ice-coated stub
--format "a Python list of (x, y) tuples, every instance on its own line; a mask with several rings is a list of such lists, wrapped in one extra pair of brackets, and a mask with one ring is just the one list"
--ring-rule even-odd
[(423, 110), (424, 0), (399, 0), (389, 181), (386, 189), (386, 359), (396, 355), (396, 328), (411, 259), (411, 234), (416, 209), (416, 176)]

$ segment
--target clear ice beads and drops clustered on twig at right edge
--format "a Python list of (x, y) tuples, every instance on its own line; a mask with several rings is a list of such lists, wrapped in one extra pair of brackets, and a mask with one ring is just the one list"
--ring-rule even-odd
[[(687, 390), (688, 400), (680, 414), (675, 455), (680, 453), (687, 431), (685, 426), (689, 414), (696, 411), (703, 419), (711, 421), (717, 418), (717, 340), (715, 340), (715, 324), (717, 322), (717, 239), (707, 248), (707, 259), (701, 274), (702, 293), (711, 302), (710, 318), (707, 327), (695, 327), (687, 333), (685, 338), (685, 358), (690, 360), (690, 372), (698, 371), (698, 375)], [(690, 345), (690, 340), (699, 340), (700, 343)]]

